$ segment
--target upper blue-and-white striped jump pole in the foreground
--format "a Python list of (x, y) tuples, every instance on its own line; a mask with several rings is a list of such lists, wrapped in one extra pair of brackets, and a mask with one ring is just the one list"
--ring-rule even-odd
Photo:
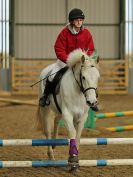
[[(69, 139), (10, 139), (0, 140), (0, 146), (65, 146)], [(82, 138), (81, 145), (133, 144), (133, 138)]]

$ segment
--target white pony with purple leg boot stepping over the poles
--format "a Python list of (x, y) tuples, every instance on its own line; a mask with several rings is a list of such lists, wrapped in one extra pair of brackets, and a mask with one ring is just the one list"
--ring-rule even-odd
[[(44, 73), (55, 67), (50, 65)], [(56, 107), (53, 95), (50, 95), (50, 105), (38, 107), (37, 127), (42, 128), (46, 138), (57, 138), (58, 123), (62, 118), (68, 130), (69, 162), (78, 166), (78, 145), (84, 123), (87, 119), (88, 109), (97, 103), (96, 89), (100, 77), (97, 61), (88, 56), (81, 49), (76, 49), (68, 56), (67, 66), (69, 67), (60, 81), (60, 90), (57, 93), (57, 102), (62, 111)], [(46, 72), (44, 72), (46, 71)], [(46, 75), (45, 75), (46, 76)], [(41, 78), (42, 79), (42, 78)], [(40, 84), (40, 95), (44, 91), (44, 83)], [(53, 135), (52, 135), (53, 132)], [(48, 157), (54, 159), (53, 149), (48, 146)]]

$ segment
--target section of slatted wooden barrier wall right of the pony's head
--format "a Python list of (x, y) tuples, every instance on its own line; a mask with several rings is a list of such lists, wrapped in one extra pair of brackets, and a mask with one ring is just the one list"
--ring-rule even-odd
[(99, 91), (102, 94), (128, 93), (128, 63), (126, 60), (100, 61)]

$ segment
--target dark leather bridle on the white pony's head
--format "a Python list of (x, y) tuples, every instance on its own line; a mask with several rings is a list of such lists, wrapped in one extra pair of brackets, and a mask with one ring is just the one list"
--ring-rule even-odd
[[(73, 72), (74, 79), (75, 79), (75, 81), (77, 82), (77, 84), (78, 84), (78, 86), (79, 86), (79, 88), (80, 88), (80, 90), (81, 90), (81, 92), (82, 92), (83, 94), (85, 94), (88, 90), (95, 90), (96, 97), (98, 97), (97, 88), (95, 88), (95, 87), (88, 87), (88, 88), (86, 88), (86, 89), (84, 88), (83, 82), (82, 82), (82, 72), (81, 72), (81, 70), (82, 70), (83, 67), (84, 67), (84, 66), (81, 66), (81, 69), (80, 69), (80, 83), (78, 82), (78, 80), (77, 80), (76, 77), (75, 77), (74, 67), (72, 68), (72, 72)], [(91, 67), (94, 67), (94, 66), (92, 65)]]

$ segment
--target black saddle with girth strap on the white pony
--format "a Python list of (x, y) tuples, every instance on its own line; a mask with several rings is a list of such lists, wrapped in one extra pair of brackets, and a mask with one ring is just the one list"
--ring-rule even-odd
[(68, 70), (68, 66), (65, 66), (64, 68), (60, 69), (56, 73), (56, 75), (54, 76), (54, 79), (52, 81), (47, 80), (48, 87), (49, 87), (49, 94), (53, 94), (55, 105), (60, 113), (62, 113), (62, 111), (61, 111), (59, 104), (57, 102), (56, 94), (59, 92), (60, 81), (67, 70)]

